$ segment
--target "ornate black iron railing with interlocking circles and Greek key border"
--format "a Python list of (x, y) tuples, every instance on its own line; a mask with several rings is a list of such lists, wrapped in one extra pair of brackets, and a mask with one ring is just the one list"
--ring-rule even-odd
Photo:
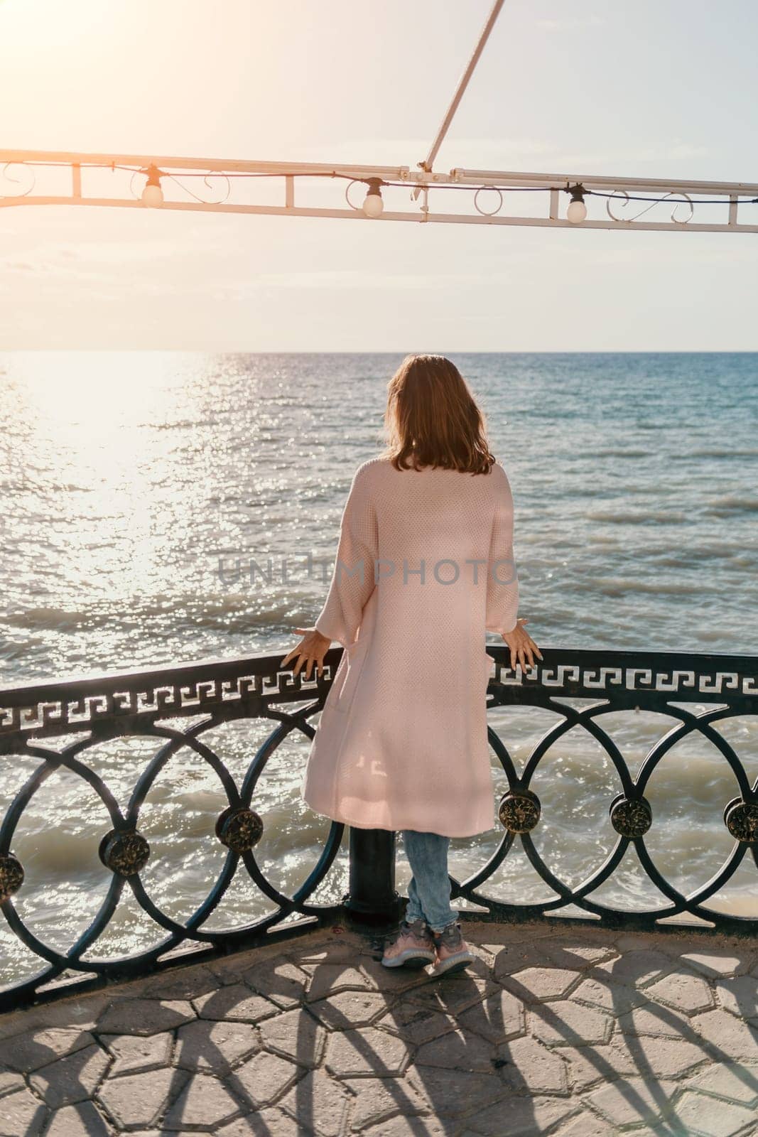
[[(758, 713), (758, 659), (751, 656), (682, 655), (677, 653), (593, 652), (543, 649), (543, 661), (522, 674), (511, 671), (505, 646), (488, 647), (494, 658), (489, 684), (490, 707), (527, 705), (559, 715), (530, 755), (520, 775), (507, 744), (491, 728), (490, 742), (505, 772), (508, 790), (499, 805), (503, 827), (498, 848), (469, 879), (452, 880), (452, 896), (476, 905), (477, 920), (514, 921), (548, 918), (561, 908), (578, 906), (593, 923), (630, 928), (661, 928), (661, 921), (690, 913), (713, 929), (755, 933), (758, 919), (709, 910), (707, 901), (734, 875), (744, 857), (758, 868), (758, 783), (751, 785), (745, 765), (716, 724), (736, 715)], [(0, 690), (0, 763), (14, 756), (39, 760), (34, 773), (10, 803), (0, 825), (0, 907), (11, 930), (47, 964), (32, 979), (0, 991), (0, 1010), (8, 1010), (55, 993), (56, 981), (84, 977), (75, 987), (89, 988), (108, 979), (122, 979), (157, 966), (174, 965), (178, 949), (192, 960), (269, 943), (309, 930), (315, 924), (344, 920), (394, 920), (402, 902), (394, 888), (394, 833), (350, 829), (348, 893), (340, 904), (309, 903), (327, 877), (339, 852), (343, 825), (334, 822), (303, 883), (284, 895), (266, 878), (256, 860), (263, 821), (256, 812), (256, 787), (270, 756), (292, 732), (313, 738), (311, 719), (318, 714), (331, 686), (341, 648), (332, 648), (320, 679), (282, 671), (283, 655), (247, 659), (208, 661), (153, 671), (130, 671)], [(576, 706), (576, 700), (582, 700)], [(698, 707), (688, 706), (698, 704)], [(634, 778), (610, 733), (603, 715), (618, 711), (649, 709), (678, 720), (657, 740)], [(185, 729), (177, 720), (191, 719)], [(269, 721), (272, 730), (252, 757), (240, 786), (203, 735), (231, 720)], [(608, 803), (617, 835), (605, 863), (578, 887), (568, 887), (540, 857), (532, 831), (540, 824), (541, 803), (531, 788), (541, 758), (549, 747), (574, 727), (582, 727), (605, 749), (618, 777), (620, 794)], [(658, 871), (645, 847), (645, 833), (656, 819), (645, 787), (665, 754), (693, 732), (708, 739), (723, 755), (735, 778), (739, 794), (723, 808), (723, 822), (734, 845), (719, 871), (690, 895), (683, 895)], [(69, 738), (69, 736), (72, 736)], [(99, 744), (118, 737), (156, 739), (158, 749), (139, 777), (127, 807), (122, 811), (98, 773)], [(55, 748), (47, 740), (55, 739)], [(226, 856), (207, 898), (184, 922), (172, 919), (148, 895), (140, 871), (150, 857), (150, 846), (140, 832), (140, 810), (163, 766), (181, 747), (194, 752), (217, 774), (226, 795), (226, 807), (216, 820), (216, 837)], [(88, 761), (90, 758), (90, 761)], [(14, 854), (14, 835), (35, 792), (56, 770), (66, 767), (81, 777), (98, 795), (106, 823), (99, 835), (99, 855), (113, 878), (105, 899), (88, 929), (67, 951), (58, 951), (34, 935), (18, 914), (14, 897), (24, 887), (24, 865)], [(1, 769), (1, 766), (0, 766)], [(502, 864), (516, 839), (556, 899), (535, 904), (505, 904), (482, 891), (482, 885)], [(93, 838), (94, 839), (94, 838)], [(634, 843), (639, 860), (669, 905), (647, 912), (620, 911), (592, 899), (592, 894), (613, 874)], [(275, 911), (243, 928), (215, 931), (205, 928), (219, 906), (234, 874), (247, 872)], [(160, 943), (117, 960), (93, 960), (89, 951), (108, 926), (125, 886), (142, 910), (166, 932)], [(758, 880), (757, 880), (758, 906)], [(284, 923), (299, 914), (297, 922)], [(466, 912), (461, 913), (466, 919)], [(576, 918), (582, 922), (583, 918)], [(280, 926), (280, 927), (277, 927)]]

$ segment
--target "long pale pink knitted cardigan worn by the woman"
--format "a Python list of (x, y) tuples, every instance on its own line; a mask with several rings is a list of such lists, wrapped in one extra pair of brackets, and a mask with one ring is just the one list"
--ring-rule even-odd
[(495, 824), (484, 630), (518, 611), (505, 470), (356, 471), (316, 620), (344, 652), (301, 792), (361, 829), (470, 837)]

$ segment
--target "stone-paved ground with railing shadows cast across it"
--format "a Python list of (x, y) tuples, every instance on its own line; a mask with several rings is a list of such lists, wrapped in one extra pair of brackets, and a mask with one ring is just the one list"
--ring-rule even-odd
[(465, 928), (441, 980), (324, 929), (0, 1016), (0, 1132), (758, 1135), (758, 943)]

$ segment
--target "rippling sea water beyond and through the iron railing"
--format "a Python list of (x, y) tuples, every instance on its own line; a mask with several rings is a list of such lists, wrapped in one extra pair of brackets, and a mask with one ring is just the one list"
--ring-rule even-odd
[[(381, 449), (386, 383), (401, 358), (0, 356), (0, 682), (289, 650), (299, 639), (293, 629), (313, 624), (325, 599), (352, 473)], [(758, 355), (451, 358), (510, 479), (519, 614), (540, 646), (758, 654)], [(520, 769), (558, 720), (524, 707), (492, 712), (490, 721)], [(202, 738), (239, 785), (273, 725), (226, 723)], [(633, 772), (673, 725), (652, 713), (603, 717)], [(758, 722), (734, 717), (719, 729), (753, 781)], [(299, 796), (308, 745), (290, 733), (253, 800), (265, 823), (256, 856), (288, 895), (311, 871), (330, 829)], [(81, 758), (125, 808), (158, 746), (155, 738), (118, 739)], [(38, 764), (0, 758), (3, 812)], [(493, 773), (500, 794), (505, 778), (494, 765)], [(574, 728), (551, 746), (533, 789), (542, 802), (538, 852), (577, 887), (616, 840), (608, 819), (619, 791), (614, 767)], [(700, 736), (674, 746), (653, 774), (645, 840), (685, 894), (731, 853), (723, 810), (736, 794), (726, 762)], [(177, 921), (222, 870), (214, 825), (224, 806), (216, 775), (186, 747), (148, 794), (140, 829), (151, 857), (142, 880)], [(110, 828), (94, 791), (58, 771), (16, 830), (11, 847), (26, 872), (16, 907), (58, 949), (103, 902), (110, 873), (98, 843)], [(497, 829), (453, 840), (453, 877), (476, 872), (501, 836)], [(409, 870), (401, 844), (399, 853), (402, 890)], [(240, 927), (273, 910), (245, 875), (238, 872), (207, 928)], [(347, 832), (311, 902), (332, 903), (345, 890)], [(518, 841), (482, 891), (511, 903), (555, 896)], [(593, 898), (635, 910), (667, 904), (632, 847)], [(755, 863), (745, 857), (708, 903), (758, 915)], [(92, 957), (134, 952), (164, 935), (127, 887)], [(39, 970), (6, 927), (0, 954), (0, 981)]]

